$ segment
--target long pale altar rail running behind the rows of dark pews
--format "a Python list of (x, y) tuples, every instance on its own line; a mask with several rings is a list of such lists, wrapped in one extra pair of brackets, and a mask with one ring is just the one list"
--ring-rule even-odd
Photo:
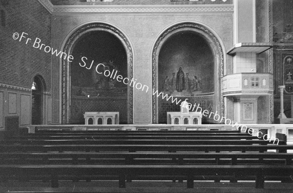
[[(293, 143), (293, 124), (246, 124), (248, 128), (253, 128), (257, 132), (268, 134), (268, 137), (276, 137), (276, 133), (287, 135), (287, 142)], [(210, 125), (33, 125), (28, 126), (29, 133), (39, 130), (47, 131), (237, 131), (236, 127), (224, 124)], [(243, 131), (242, 131), (243, 132)]]

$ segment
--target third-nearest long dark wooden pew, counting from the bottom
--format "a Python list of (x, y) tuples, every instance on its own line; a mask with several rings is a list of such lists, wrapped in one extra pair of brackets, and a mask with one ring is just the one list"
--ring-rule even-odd
[(100, 151), (126, 151), (126, 152), (266, 152), (277, 150), (285, 153), (293, 150), (293, 145), (12, 145), (0, 144), (0, 152), (100, 152)]

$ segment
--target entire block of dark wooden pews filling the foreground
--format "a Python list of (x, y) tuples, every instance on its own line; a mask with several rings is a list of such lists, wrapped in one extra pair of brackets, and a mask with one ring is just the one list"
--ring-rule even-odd
[[(0, 180), (293, 182), (293, 145), (238, 131), (43, 131), (0, 141)], [(274, 150), (275, 152), (272, 152)]]

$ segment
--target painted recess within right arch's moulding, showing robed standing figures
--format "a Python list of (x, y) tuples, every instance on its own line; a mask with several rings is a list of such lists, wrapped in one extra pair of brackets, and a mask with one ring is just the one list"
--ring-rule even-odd
[[(158, 71), (159, 91), (182, 100), (188, 98), (189, 103), (200, 103), (212, 111), (214, 57), (200, 34), (183, 31), (167, 39), (159, 53)], [(158, 108), (159, 123), (167, 121), (167, 112), (180, 111), (179, 105), (164, 99), (159, 99)]]

